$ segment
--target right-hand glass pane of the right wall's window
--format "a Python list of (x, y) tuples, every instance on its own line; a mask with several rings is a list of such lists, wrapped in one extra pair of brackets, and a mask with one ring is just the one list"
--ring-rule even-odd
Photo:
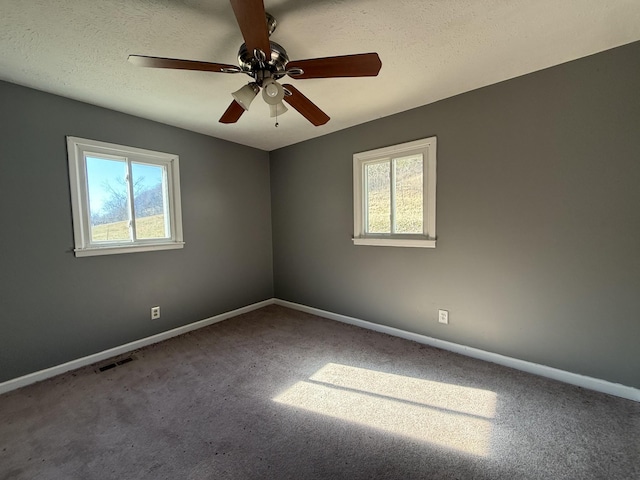
[(422, 154), (393, 160), (395, 176), (395, 232), (424, 231)]

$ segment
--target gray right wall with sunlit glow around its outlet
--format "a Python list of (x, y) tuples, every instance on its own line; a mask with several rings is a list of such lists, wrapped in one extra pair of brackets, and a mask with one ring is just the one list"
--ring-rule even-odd
[[(271, 152), (276, 297), (640, 387), (639, 58), (630, 44)], [(353, 246), (352, 154), (431, 135), (437, 248)]]

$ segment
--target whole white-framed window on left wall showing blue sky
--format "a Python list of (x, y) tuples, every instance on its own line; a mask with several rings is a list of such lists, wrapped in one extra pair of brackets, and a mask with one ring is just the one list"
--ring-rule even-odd
[(178, 156), (67, 137), (77, 257), (182, 248)]

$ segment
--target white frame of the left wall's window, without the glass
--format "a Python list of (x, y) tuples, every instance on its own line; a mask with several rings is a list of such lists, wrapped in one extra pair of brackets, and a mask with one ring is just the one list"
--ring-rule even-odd
[[(67, 156), (69, 160), (71, 210), (73, 213), (73, 237), (75, 243), (74, 252), (76, 257), (168, 250), (184, 247), (180, 202), (180, 159), (178, 155), (68, 136)], [(136, 239), (134, 241), (108, 243), (92, 242), (91, 213), (89, 211), (88, 195), (89, 187), (87, 183), (87, 156), (125, 159), (129, 168), (131, 168), (131, 162), (166, 167), (169, 238)], [(135, 219), (133, 221), (135, 221)]]

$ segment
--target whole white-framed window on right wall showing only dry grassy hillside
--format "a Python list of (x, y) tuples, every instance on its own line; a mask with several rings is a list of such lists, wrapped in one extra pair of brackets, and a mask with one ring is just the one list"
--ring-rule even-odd
[(436, 137), (353, 156), (355, 245), (436, 246)]

